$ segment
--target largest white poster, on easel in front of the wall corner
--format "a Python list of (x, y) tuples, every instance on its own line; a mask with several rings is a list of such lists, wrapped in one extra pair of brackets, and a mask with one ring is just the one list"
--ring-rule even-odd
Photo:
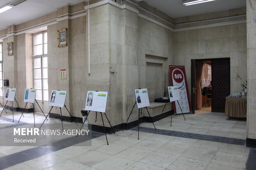
[(87, 91), (85, 110), (105, 113), (107, 93), (105, 91)]

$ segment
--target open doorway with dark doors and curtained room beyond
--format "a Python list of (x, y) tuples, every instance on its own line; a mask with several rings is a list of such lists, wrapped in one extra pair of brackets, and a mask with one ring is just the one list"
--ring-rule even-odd
[(230, 94), (230, 58), (192, 60), (191, 103), (195, 109), (225, 112), (225, 97)]

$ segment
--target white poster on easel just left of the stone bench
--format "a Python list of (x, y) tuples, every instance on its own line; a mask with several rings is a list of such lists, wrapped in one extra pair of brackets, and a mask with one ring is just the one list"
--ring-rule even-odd
[(135, 98), (136, 98), (138, 109), (142, 107), (147, 107), (150, 105), (147, 88), (135, 89), (134, 92), (135, 92)]

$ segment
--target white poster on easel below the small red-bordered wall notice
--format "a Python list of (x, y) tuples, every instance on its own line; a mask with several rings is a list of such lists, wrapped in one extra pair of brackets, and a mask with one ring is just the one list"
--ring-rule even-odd
[(50, 106), (64, 107), (66, 100), (66, 91), (53, 90), (50, 97)]

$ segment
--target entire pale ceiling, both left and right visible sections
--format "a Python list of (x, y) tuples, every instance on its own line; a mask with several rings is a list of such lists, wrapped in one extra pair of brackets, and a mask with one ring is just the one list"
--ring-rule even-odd
[[(14, 0), (0, 0), (3, 7)], [(0, 13), (0, 30), (10, 25), (17, 25), (38, 16), (54, 12), (57, 8), (67, 4), (75, 4), (83, 0), (27, 0), (12, 9)], [(142, 0), (136, 0), (142, 1)], [(183, 0), (144, 0), (149, 5), (168, 14), (172, 18), (218, 12), (246, 6), (246, 0), (216, 0), (197, 5), (185, 6)]]

